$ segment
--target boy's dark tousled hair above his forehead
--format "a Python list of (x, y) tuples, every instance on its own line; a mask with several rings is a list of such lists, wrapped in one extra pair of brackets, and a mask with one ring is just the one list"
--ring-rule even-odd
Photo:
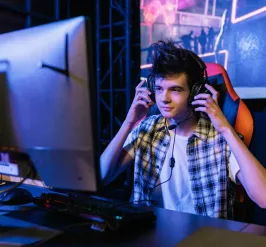
[(194, 83), (204, 79), (204, 69), (196, 59), (202, 61), (192, 51), (176, 47), (172, 40), (160, 40), (152, 45), (152, 68), (149, 80), (154, 85), (156, 78), (185, 73), (191, 89)]

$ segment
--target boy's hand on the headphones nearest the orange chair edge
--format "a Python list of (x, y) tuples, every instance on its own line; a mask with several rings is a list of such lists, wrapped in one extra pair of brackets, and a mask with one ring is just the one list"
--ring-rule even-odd
[(205, 84), (205, 87), (212, 95), (207, 93), (198, 94), (194, 97), (192, 105), (196, 105), (195, 111), (205, 112), (215, 129), (220, 133), (224, 133), (231, 126), (218, 105), (219, 93), (208, 84)]

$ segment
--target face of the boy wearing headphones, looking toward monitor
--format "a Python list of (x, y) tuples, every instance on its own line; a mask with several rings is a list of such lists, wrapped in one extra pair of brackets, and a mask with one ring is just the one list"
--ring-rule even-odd
[(185, 73), (155, 80), (155, 98), (161, 114), (176, 121), (183, 120), (191, 107), (188, 105), (189, 87)]

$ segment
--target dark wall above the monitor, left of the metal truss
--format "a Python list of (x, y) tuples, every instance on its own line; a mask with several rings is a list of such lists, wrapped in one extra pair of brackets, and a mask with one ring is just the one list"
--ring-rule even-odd
[(0, 33), (11, 32), (79, 15), (95, 19), (95, 1), (81, 0), (1, 0)]

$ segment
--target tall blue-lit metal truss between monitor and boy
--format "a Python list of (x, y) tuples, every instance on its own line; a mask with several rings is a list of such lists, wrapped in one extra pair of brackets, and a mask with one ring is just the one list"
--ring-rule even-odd
[[(139, 12), (135, 2), (138, 1), (96, 1), (98, 135), (103, 146), (118, 131), (132, 101), (132, 81), (139, 69), (139, 62), (135, 59), (139, 49), (134, 52), (136, 35), (133, 37), (132, 32), (133, 15)], [(135, 8), (135, 13), (132, 7)], [(139, 19), (136, 25), (139, 26)]]

